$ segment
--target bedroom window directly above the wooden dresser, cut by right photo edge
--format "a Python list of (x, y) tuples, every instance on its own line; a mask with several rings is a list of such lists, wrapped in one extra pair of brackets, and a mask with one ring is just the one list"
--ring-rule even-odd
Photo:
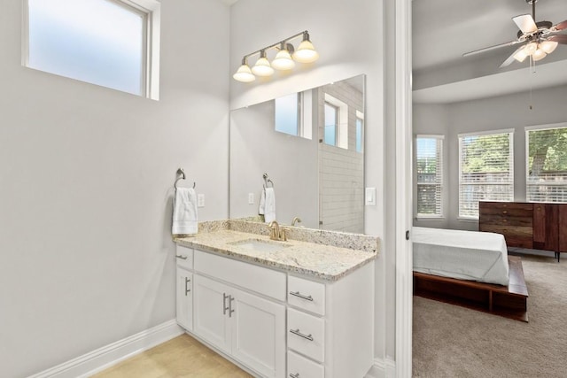
[(525, 127), (526, 199), (567, 203), (567, 123)]

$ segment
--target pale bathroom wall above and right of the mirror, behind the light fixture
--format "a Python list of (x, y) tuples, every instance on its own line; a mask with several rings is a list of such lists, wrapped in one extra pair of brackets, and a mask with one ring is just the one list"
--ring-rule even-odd
[[(230, 12), (231, 73), (237, 70), (245, 54), (306, 29), (321, 56), (312, 65), (298, 66), (292, 73), (276, 73), (267, 81), (231, 81), (231, 109), (319, 87), (361, 73), (367, 75), (365, 185), (377, 188), (377, 205), (365, 208), (365, 233), (380, 236), (386, 243), (383, 2), (239, 0)], [(254, 59), (251, 63), (253, 62)], [(393, 177), (391, 180), (394, 180)], [(393, 243), (391, 245), (390, 249), (383, 248), (377, 259), (377, 359), (393, 358), (394, 353), (395, 269), (388, 279), (385, 273), (385, 266), (392, 266), (392, 261), (395, 261)], [(386, 297), (390, 299), (388, 303)]]

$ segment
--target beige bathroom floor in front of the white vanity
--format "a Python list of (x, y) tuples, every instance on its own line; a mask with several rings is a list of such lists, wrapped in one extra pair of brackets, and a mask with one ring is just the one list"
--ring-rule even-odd
[(93, 377), (248, 378), (252, 375), (223, 359), (189, 335), (182, 335), (124, 360)]

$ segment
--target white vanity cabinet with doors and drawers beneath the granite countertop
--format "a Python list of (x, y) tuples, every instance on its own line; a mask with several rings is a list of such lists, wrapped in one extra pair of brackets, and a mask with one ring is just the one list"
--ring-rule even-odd
[(188, 256), (177, 259), (177, 321), (190, 334), (260, 377), (357, 378), (369, 371), (374, 264), (327, 281), (177, 248)]

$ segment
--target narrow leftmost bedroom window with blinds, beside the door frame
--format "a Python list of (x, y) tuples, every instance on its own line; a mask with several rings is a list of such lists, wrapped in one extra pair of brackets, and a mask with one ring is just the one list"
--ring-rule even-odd
[(416, 136), (417, 218), (443, 216), (443, 135)]

